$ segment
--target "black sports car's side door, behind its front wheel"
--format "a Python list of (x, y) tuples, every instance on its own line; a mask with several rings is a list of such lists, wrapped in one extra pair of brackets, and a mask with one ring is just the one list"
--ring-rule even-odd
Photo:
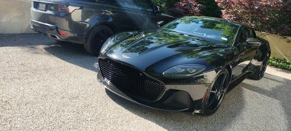
[(247, 73), (252, 67), (252, 60), (257, 55), (258, 47), (256, 46), (250, 46), (247, 45), (246, 40), (250, 37), (255, 38), (254, 32), (247, 28), (242, 26), (239, 37), (237, 38), (237, 41), (235, 43), (235, 47), (238, 50), (237, 51), (237, 57), (234, 59), (233, 62), (233, 69), (232, 69), (232, 78), (235, 79), (239, 77), (240, 75)]

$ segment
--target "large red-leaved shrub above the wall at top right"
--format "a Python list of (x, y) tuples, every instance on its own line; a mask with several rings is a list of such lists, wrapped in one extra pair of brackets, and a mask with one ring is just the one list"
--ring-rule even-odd
[(260, 32), (291, 36), (290, 0), (216, 0), (222, 17)]

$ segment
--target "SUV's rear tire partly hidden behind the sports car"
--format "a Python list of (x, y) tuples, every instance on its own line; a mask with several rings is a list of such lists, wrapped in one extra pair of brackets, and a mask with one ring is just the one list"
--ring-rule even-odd
[(104, 42), (113, 34), (109, 27), (98, 25), (89, 34), (88, 39), (84, 43), (84, 48), (88, 53), (98, 56)]

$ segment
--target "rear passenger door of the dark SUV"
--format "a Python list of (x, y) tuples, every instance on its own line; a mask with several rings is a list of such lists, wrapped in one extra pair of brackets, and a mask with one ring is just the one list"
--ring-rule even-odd
[(123, 31), (139, 31), (139, 13), (133, 9), (132, 0), (105, 0), (104, 10), (109, 21), (118, 29)]

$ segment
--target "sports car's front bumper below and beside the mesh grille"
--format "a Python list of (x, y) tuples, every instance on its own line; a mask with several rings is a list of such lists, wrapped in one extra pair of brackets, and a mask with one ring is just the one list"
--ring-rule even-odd
[(97, 79), (109, 91), (134, 103), (158, 110), (183, 113), (200, 113), (202, 98), (210, 86), (210, 83), (165, 85), (164, 92), (157, 100), (147, 101), (119, 90), (106, 81), (100, 72), (97, 74)]

